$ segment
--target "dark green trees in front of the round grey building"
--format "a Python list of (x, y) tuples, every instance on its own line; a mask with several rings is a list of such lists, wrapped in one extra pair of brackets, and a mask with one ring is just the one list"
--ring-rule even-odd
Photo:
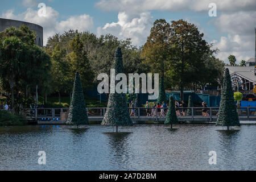
[(35, 94), (36, 86), (47, 92), (50, 68), (50, 57), (35, 45), (35, 34), (28, 27), (10, 27), (0, 33), (1, 88), (13, 109), (18, 110), (16, 106), (23, 104), (20, 98), (28, 98), (29, 90)]

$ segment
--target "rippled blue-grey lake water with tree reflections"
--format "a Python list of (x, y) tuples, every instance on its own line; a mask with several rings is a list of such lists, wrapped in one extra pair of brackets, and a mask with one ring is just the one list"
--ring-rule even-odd
[[(0, 127), (1, 170), (256, 170), (256, 125)], [(46, 165), (38, 152), (46, 152)], [(217, 164), (210, 165), (209, 151)]]

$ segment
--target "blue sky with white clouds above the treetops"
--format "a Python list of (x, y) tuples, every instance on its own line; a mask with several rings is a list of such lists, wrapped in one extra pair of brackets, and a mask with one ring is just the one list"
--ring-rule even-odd
[[(39, 3), (46, 4), (45, 17), (38, 15)], [(210, 3), (217, 6), (215, 17), (208, 14)], [(44, 44), (55, 33), (77, 29), (132, 38), (137, 46), (146, 42), (156, 19), (185, 19), (220, 49), (217, 57), (225, 62), (229, 55), (238, 62), (254, 57), (255, 0), (1, 0), (0, 17), (39, 24)]]

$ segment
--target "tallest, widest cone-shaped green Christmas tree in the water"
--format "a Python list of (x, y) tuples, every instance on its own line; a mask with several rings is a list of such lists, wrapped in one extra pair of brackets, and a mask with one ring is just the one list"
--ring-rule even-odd
[[(117, 48), (117, 51), (115, 51), (114, 69), (115, 75), (123, 73), (122, 52), (119, 47)], [(109, 94), (108, 106), (101, 125), (112, 125), (117, 127), (133, 125), (127, 108), (125, 93)]]

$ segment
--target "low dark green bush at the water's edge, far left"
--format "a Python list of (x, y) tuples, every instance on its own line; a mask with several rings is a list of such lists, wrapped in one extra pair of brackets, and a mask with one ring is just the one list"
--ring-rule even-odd
[(0, 110), (0, 126), (26, 125), (27, 120), (23, 115), (11, 114)]

